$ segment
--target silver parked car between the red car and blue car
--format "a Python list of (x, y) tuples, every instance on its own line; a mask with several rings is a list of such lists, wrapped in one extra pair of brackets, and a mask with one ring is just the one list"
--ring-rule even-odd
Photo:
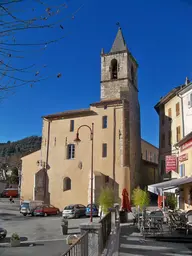
[(63, 217), (65, 218), (80, 218), (85, 216), (86, 207), (82, 204), (71, 204), (64, 208)]

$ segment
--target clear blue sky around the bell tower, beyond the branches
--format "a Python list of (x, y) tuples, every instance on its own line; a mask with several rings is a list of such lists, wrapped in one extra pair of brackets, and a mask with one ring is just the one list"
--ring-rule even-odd
[[(173, 87), (192, 79), (192, 1), (68, 1), (74, 19), (63, 22), (66, 38), (46, 53), (29, 54), (46, 63), (49, 79), (17, 89), (0, 103), (0, 142), (41, 135), (41, 116), (89, 107), (100, 97), (100, 51), (109, 51), (120, 22), (128, 48), (139, 63), (142, 137), (158, 145), (154, 105)], [(32, 31), (31, 36), (38, 36)], [(41, 32), (43, 33), (43, 31)], [(57, 33), (55, 31), (54, 33)], [(43, 35), (46, 36), (46, 35)], [(57, 36), (57, 35), (55, 35)], [(62, 73), (56, 79), (57, 73)]]

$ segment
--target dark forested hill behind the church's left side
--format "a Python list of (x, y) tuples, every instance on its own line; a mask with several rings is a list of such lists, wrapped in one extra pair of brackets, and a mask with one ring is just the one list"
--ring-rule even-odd
[(20, 167), (21, 157), (41, 148), (41, 137), (31, 136), (18, 141), (0, 143), (0, 164), (9, 167)]

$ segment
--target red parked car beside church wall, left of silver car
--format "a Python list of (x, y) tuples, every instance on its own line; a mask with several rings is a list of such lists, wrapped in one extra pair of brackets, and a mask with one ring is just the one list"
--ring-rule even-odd
[(37, 206), (33, 212), (32, 216), (48, 216), (48, 215), (58, 215), (60, 213), (59, 209), (48, 204)]

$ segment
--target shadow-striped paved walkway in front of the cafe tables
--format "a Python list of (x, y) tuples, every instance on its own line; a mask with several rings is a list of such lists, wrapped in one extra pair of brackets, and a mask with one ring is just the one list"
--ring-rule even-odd
[(143, 239), (131, 223), (121, 224), (119, 256), (191, 256), (185, 244)]

